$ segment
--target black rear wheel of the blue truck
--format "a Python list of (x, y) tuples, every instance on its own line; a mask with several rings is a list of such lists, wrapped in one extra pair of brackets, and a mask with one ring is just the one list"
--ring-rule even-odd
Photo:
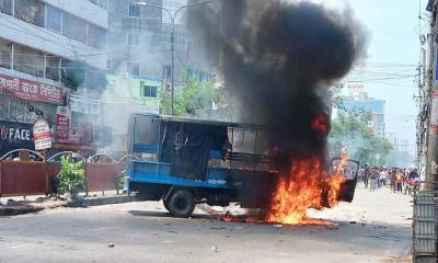
[(168, 206), (172, 216), (186, 218), (195, 209), (195, 198), (189, 191), (177, 190), (171, 195)]

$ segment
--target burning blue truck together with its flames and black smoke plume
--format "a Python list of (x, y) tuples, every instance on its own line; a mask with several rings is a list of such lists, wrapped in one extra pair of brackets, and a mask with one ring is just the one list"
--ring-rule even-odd
[[(222, 0), (223, 20), (192, 9), (195, 32), (219, 46), (239, 123), (137, 114), (129, 190), (176, 217), (196, 204), (260, 208), (257, 220), (300, 224), (308, 208), (350, 202), (358, 163), (327, 160), (330, 87), (365, 57), (351, 10), (301, 0)], [(245, 124), (249, 123), (249, 124)]]

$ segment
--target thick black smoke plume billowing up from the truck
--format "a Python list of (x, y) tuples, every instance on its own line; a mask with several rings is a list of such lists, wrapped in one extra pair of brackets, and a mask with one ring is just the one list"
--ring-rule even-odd
[(324, 158), (327, 133), (312, 122), (324, 115), (330, 127), (327, 88), (365, 55), (366, 37), (350, 10), (302, 1), (220, 2), (220, 33), (206, 35), (220, 45), (226, 89), (238, 101), (239, 121), (278, 127), (276, 147), (285, 161)]

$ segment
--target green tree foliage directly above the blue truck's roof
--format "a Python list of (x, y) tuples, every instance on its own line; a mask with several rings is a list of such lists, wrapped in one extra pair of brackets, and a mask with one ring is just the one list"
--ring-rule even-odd
[[(185, 87), (175, 89), (174, 115), (226, 119), (229, 105), (223, 89), (216, 89), (209, 81), (194, 77), (184, 78)], [(171, 93), (160, 91), (161, 113), (171, 114)]]

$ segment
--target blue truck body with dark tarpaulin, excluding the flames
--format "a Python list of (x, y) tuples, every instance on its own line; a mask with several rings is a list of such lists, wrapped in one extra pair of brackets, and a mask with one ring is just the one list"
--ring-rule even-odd
[[(129, 125), (128, 191), (163, 201), (176, 217), (198, 203), (267, 208), (278, 172), (269, 149), (274, 129), (260, 125), (134, 114)], [(356, 179), (350, 180), (349, 190)], [(349, 191), (351, 193), (351, 191)], [(349, 194), (348, 198), (353, 198)]]

